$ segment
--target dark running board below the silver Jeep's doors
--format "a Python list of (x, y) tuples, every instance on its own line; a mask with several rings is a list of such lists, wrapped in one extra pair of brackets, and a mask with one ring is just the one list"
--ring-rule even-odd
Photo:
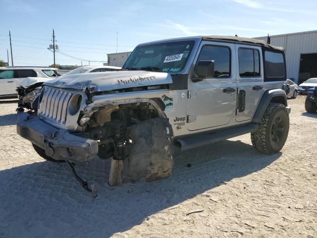
[(231, 127), (214, 132), (206, 132), (197, 135), (191, 135), (183, 138), (177, 138), (174, 142), (176, 147), (182, 151), (208, 145), (221, 140), (226, 140), (238, 135), (247, 134), (256, 131), (259, 128), (258, 123), (251, 123), (245, 126)]

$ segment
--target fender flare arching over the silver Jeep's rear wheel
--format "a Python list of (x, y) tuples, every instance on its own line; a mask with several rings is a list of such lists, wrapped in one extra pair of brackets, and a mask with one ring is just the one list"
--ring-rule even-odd
[(287, 96), (284, 90), (282, 89), (270, 89), (264, 92), (261, 101), (258, 105), (258, 108), (253, 116), (253, 122), (261, 122), (263, 115), (266, 111), (268, 104), (274, 99), (278, 98), (281, 103), (287, 107)]

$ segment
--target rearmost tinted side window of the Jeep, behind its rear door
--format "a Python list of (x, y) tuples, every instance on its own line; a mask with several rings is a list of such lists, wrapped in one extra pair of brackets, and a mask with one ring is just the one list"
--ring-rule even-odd
[(265, 77), (283, 78), (285, 77), (285, 64), (282, 53), (265, 51)]

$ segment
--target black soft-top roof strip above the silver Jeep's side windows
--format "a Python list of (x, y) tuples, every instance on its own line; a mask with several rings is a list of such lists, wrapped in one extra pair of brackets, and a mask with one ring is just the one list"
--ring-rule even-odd
[(247, 37), (238, 37), (238, 36), (202, 36), (203, 40), (220, 40), (220, 41), (235, 41), (235, 42), (241, 42), (241, 43), (248, 43), (248, 44), (255, 44), (255, 45), (261, 45), (270, 49), (274, 49), (277, 51), (284, 51), (283, 47), (279, 46), (272, 46), (270, 44), (267, 44), (265, 41), (257, 40), (253, 38), (247, 38)]

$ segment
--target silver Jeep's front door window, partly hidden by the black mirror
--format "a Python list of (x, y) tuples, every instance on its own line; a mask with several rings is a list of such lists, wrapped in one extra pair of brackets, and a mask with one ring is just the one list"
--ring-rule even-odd
[(213, 77), (230, 76), (230, 49), (223, 46), (203, 46), (200, 51), (198, 61), (213, 60), (214, 74)]

